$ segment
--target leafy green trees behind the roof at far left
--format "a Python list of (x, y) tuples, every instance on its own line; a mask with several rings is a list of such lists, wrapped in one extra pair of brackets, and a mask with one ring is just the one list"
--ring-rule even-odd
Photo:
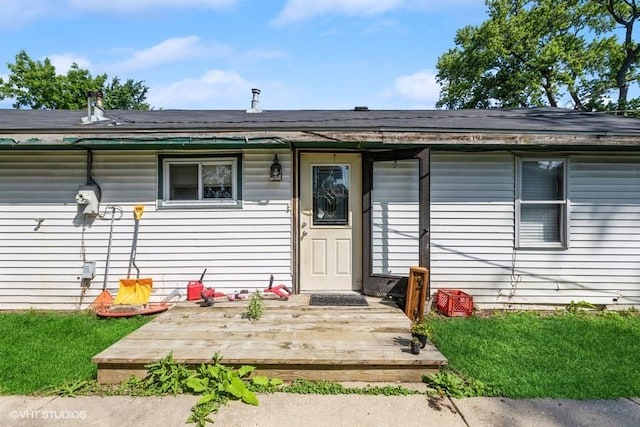
[(108, 81), (106, 74), (92, 76), (87, 70), (73, 63), (64, 75), (56, 74), (49, 58), (36, 61), (21, 50), (15, 63), (7, 64), (10, 74), (0, 78), (0, 99), (13, 99), (13, 108), (78, 110), (87, 105), (87, 93), (102, 91), (107, 109), (147, 110), (149, 90), (142, 81), (118, 77)]

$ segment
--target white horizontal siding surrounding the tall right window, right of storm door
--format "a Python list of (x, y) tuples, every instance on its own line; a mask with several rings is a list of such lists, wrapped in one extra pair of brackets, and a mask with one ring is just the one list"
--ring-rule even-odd
[(570, 156), (571, 246), (560, 251), (515, 249), (513, 164), (432, 154), (432, 291), (462, 289), (484, 308), (640, 304), (640, 156)]

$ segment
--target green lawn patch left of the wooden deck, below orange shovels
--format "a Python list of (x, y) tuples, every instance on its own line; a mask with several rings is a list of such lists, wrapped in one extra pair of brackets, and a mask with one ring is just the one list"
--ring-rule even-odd
[(150, 319), (99, 319), (89, 312), (2, 312), (0, 394), (30, 394), (95, 379), (91, 357)]

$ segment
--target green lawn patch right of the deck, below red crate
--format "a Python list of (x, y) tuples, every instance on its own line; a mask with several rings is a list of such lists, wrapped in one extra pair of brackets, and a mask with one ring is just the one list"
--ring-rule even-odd
[(453, 370), (511, 398), (640, 396), (637, 313), (429, 319)]

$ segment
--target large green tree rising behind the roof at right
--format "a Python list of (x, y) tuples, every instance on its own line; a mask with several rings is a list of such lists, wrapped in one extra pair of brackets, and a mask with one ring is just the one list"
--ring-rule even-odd
[[(486, 0), (489, 18), (456, 33), (438, 58), (445, 108), (628, 105), (637, 81), (636, 0)], [(617, 17), (616, 17), (617, 16)], [(627, 39), (616, 30), (625, 26)], [(619, 89), (618, 102), (606, 96)], [(631, 100), (632, 103), (636, 100)]]

